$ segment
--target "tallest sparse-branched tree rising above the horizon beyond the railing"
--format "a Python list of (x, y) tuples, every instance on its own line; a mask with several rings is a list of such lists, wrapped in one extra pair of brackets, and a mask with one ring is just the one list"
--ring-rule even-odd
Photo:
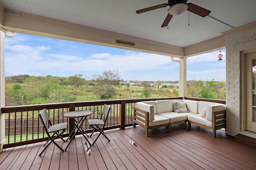
[(105, 70), (102, 74), (93, 75), (95, 94), (99, 95), (101, 99), (110, 99), (116, 96), (116, 87), (119, 85), (118, 70)]

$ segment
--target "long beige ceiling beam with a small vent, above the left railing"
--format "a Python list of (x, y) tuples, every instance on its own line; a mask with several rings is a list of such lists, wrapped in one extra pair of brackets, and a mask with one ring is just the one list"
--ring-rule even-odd
[[(121, 33), (96, 29), (75, 23), (37, 16), (25, 12), (5, 10), (4, 28), (7, 31), (39, 35), (116, 47), (134, 51), (184, 57), (184, 48)], [(116, 40), (135, 43), (134, 46), (116, 43)]]

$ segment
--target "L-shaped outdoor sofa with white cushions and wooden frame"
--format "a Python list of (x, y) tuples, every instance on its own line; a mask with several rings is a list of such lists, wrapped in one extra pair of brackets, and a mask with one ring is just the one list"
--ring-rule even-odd
[(171, 131), (171, 126), (183, 124), (188, 129), (191, 124), (198, 125), (213, 131), (216, 137), (216, 130), (226, 128), (226, 105), (214, 102), (203, 102), (194, 100), (156, 100), (137, 102), (134, 107), (134, 127), (140, 125), (148, 130), (158, 127), (166, 127)]

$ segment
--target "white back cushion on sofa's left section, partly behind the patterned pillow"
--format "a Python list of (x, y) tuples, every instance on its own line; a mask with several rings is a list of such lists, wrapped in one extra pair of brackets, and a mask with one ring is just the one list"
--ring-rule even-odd
[(156, 113), (164, 113), (173, 111), (172, 102), (182, 102), (182, 100), (175, 99), (175, 100), (156, 100), (157, 110)]

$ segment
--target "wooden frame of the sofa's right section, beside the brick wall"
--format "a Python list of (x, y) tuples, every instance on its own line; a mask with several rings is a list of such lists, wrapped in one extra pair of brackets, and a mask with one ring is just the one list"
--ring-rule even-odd
[(200, 127), (204, 127), (206, 129), (212, 130), (213, 137), (216, 138), (216, 130), (222, 129), (222, 128), (226, 129), (226, 110), (212, 112), (212, 127), (202, 125), (200, 123), (196, 123), (193, 121), (188, 121), (188, 129), (191, 129), (191, 124), (198, 125)]

